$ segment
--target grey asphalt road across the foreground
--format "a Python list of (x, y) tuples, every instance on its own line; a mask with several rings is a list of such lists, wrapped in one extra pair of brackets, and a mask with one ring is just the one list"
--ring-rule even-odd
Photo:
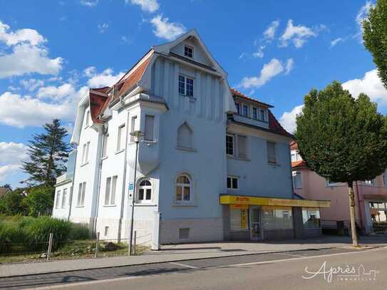
[[(306, 267), (309, 273), (305, 271)], [(0, 289), (36, 287), (93, 290), (378, 290), (387, 289), (387, 248), (254, 254), (0, 279)]]

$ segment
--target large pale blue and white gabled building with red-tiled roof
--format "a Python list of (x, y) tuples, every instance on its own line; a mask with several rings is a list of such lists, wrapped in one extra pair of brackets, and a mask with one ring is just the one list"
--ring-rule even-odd
[(271, 107), (230, 90), (196, 31), (153, 46), (112, 88), (93, 88), (80, 101), (71, 138), (76, 157), (58, 177), (53, 216), (90, 224), (101, 239), (127, 238), (135, 167), (129, 133), (141, 130), (140, 242), (158, 249), (304, 237), (303, 207), (318, 211), (329, 202), (294, 199), (291, 135)]

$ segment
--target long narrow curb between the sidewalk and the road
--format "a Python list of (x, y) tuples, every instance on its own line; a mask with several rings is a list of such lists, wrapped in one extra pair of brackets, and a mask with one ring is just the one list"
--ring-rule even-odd
[[(1, 281), (1, 279), (5, 279), (5, 278), (14, 278), (14, 277), (23, 277), (23, 276), (37, 276), (37, 275), (45, 275), (45, 274), (58, 274), (58, 273), (75, 272), (75, 271), (88, 271), (88, 270), (94, 270), (94, 269), (120, 268), (123, 266), (140, 266), (140, 265), (150, 265), (150, 264), (163, 264), (163, 263), (170, 263), (170, 262), (176, 262), (176, 261), (195, 261), (195, 260), (203, 260), (203, 259), (220, 259), (220, 258), (227, 258), (227, 257), (239, 257), (239, 256), (242, 257), (242, 256), (260, 255), (260, 254), (275, 254), (275, 253), (283, 253), (283, 252), (313, 251), (313, 250), (321, 250), (321, 249), (340, 249), (340, 247), (293, 249), (293, 250), (289, 250), (289, 251), (272, 251), (272, 252), (249, 253), (249, 254), (229, 254), (229, 255), (220, 256), (220, 257), (204, 257), (204, 258), (198, 257), (198, 258), (190, 258), (190, 259), (171, 259), (168, 261), (153, 261), (153, 262), (145, 262), (145, 263), (139, 263), (139, 264), (125, 264), (125, 265), (118, 265), (118, 266), (100, 266), (100, 267), (93, 267), (93, 268), (70, 269), (70, 270), (63, 270), (63, 271), (45, 271), (45, 272), (32, 273), (32, 274), (16, 274), (16, 275), (0, 276), (0, 281)], [(364, 250), (366, 250), (366, 249), (364, 249)], [(43, 263), (46, 263), (46, 262), (43, 262)]]

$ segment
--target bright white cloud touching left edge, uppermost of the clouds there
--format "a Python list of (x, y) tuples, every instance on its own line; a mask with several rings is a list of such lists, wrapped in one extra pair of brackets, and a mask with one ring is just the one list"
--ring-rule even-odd
[(10, 27), (0, 21), (0, 41), (4, 41), (7, 46), (14, 46), (19, 43), (29, 43), (31, 46), (37, 46), (46, 39), (33, 29), (19, 29), (9, 31)]

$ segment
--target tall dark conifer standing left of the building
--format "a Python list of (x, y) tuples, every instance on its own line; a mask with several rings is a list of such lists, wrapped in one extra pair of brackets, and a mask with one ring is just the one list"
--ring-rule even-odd
[(66, 170), (66, 161), (70, 147), (63, 141), (67, 131), (58, 119), (43, 125), (42, 134), (33, 135), (29, 141), (29, 160), (23, 162), (22, 168), (30, 177), (28, 185), (46, 185), (53, 187), (56, 177)]

